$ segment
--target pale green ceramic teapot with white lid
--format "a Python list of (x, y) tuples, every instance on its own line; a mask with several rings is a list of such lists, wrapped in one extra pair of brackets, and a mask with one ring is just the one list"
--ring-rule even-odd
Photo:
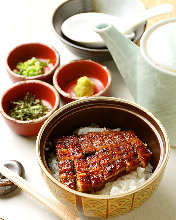
[(176, 18), (150, 27), (140, 47), (111, 24), (98, 24), (94, 30), (105, 41), (136, 103), (163, 123), (171, 145), (176, 145)]

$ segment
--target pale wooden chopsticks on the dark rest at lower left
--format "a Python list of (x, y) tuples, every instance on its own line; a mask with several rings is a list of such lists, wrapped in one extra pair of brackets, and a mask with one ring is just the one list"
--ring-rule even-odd
[(62, 219), (81, 220), (80, 217), (78, 217), (76, 214), (65, 208), (59, 201), (52, 197), (41, 194), (29, 182), (27, 182), (25, 179), (18, 176), (16, 173), (12, 172), (11, 170), (9, 170), (1, 164), (0, 173), (6, 178), (8, 178), (15, 185), (17, 185), (19, 188), (28, 193), (30, 196), (32, 196), (34, 199), (38, 200), (40, 203), (45, 205), (47, 208), (49, 208)]

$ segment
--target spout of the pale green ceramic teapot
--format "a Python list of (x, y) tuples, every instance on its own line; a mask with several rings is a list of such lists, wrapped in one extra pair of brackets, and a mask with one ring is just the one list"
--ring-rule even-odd
[(111, 24), (98, 24), (94, 31), (105, 41), (125, 84), (136, 100), (139, 47)]

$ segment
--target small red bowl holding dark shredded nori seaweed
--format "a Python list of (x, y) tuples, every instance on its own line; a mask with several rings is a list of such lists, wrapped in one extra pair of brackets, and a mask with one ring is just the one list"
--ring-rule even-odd
[[(29, 121), (16, 120), (10, 117), (9, 109), (11, 101), (24, 99), (27, 92), (35, 95), (36, 98), (40, 98), (43, 102), (49, 105), (51, 110), (45, 116)], [(0, 102), (0, 112), (9, 128), (14, 132), (20, 135), (32, 136), (38, 134), (43, 122), (59, 108), (59, 104), (59, 94), (54, 86), (41, 80), (29, 80), (17, 82), (5, 91)]]

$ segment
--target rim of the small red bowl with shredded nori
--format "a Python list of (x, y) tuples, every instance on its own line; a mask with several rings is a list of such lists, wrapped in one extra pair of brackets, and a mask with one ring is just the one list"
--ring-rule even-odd
[[(4, 96), (11, 90), (11, 89), (14, 89), (15, 87), (18, 87), (20, 85), (23, 85), (23, 84), (40, 84), (42, 86), (46, 86), (48, 88), (50, 88), (52, 90), (52, 92), (54, 93), (55, 97), (56, 97), (56, 101), (55, 101), (55, 104), (54, 104), (54, 107), (44, 116), (40, 117), (40, 118), (37, 118), (37, 119), (33, 119), (33, 120), (29, 120), (29, 121), (22, 121), (22, 120), (17, 120), (15, 118), (12, 118), (10, 117), (3, 109), (3, 106), (2, 106), (2, 100), (4, 98)], [(15, 84), (13, 84), (13, 86), (11, 86), (10, 88), (8, 88), (1, 96), (1, 99), (0, 99), (0, 113), (2, 114), (2, 116), (13, 122), (13, 123), (17, 123), (17, 124), (35, 124), (35, 123), (39, 123), (39, 122), (42, 122), (43, 120), (47, 119), (51, 114), (54, 113), (54, 111), (57, 110), (57, 108), (60, 106), (60, 96), (57, 92), (57, 90), (54, 88), (54, 86), (50, 85), (49, 83), (47, 82), (44, 82), (42, 80), (27, 80), (27, 81), (20, 81), (20, 82), (17, 82)]]

